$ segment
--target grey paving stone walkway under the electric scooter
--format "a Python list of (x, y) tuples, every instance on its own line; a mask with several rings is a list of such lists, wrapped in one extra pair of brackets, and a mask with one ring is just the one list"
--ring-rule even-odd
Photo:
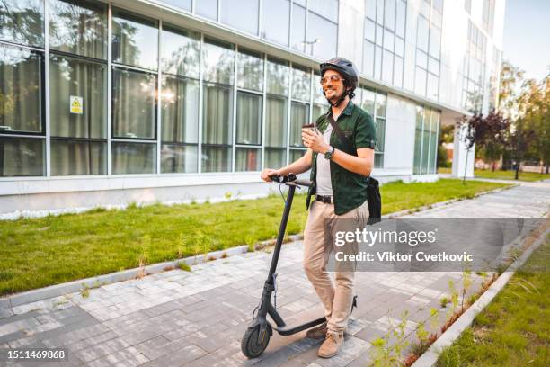
[[(549, 183), (529, 183), (474, 200), (415, 213), (416, 217), (542, 217), (550, 207)], [(301, 242), (283, 246), (279, 260), (277, 308), (284, 318), (321, 311), (306, 279)], [(351, 318), (341, 354), (319, 359), (320, 342), (274, 333), (258, 359), (247, 360), (240, 339), (259, 302), (271, 261), (265, 251), (235, 255), (141, 280), (118, 282), (4, 309), (2, 348), (67, 348), (55, 366), (367, 366), (370, 344), (395, 326), (404, 310), (408, 338), (419, 322), (440, 309), (448, 281), (460, 273), (357, 273), (359, 308)], [(475, 276), (475, 291), (481, 279)], [(441, 313), (441, 316), (443, 316)]]

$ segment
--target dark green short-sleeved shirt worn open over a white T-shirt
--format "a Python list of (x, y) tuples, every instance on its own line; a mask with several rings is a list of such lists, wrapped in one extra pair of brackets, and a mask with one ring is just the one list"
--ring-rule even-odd
[[(329, 125), (328, 116), (332, 113), (333, 110), (329, 107), (329, 111), (317, 119), (317, 127), (321, 133), (324, 133), (324, 130)], [(374, 149), (377, 142), (377, 130), (368, 112), (361, 110), (350, 101), (338, 117), (336, 123), (344, 132), (345, 137), (353, 144), (353, 148), (350, 150), (350, 147), (338, 138), (334, 130), (331, 133), (331, 146), (356, 157), (358, 148)], [(313, 183), (315, 183), (316, 179), (316, 159), (317, 153), (314, 152), (310, 178)], [(342, 215), (355, 209), (367, 200), (368, 176), (350, 172), (332, 160), (331, 183), (333, 184), (334, 213), (336, 215)], [(311, 186), (307, 192), (307, 208), (309, 208), (311, 195), (315, 194), (315, 186), (316, 184)]]

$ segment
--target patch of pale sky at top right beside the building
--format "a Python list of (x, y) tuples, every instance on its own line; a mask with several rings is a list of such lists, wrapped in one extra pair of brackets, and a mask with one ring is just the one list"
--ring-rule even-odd
[(503, 59), (541, 80), (550, 67), (550, 0), (506, 0)]

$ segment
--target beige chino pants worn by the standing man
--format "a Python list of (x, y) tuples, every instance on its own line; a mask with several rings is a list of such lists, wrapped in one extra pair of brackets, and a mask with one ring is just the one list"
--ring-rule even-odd
[[(338, 220), (346, 218), (346, 220)], [(327, 236), (324, 237), (325, 219)], [(350, 220), (351, 219), (351, 220)], [(330, 331), (340, 333), (345, 330), (350, 316), (353, 300), (355, 273), (350, 271), (334, 272), (335, 285), (326, 271), (328, 256), (334, 249), (335, 233), (364, 227), (368, 219), (368, 201), (358, 208), (341, 216), (334, 214), (334, 204), (313, 201), (309, 208), (306, 229), (304, 231), (304, 270), (324, 305), (324, 315)], [(330, 234), (330, 235), (329, 235)]]

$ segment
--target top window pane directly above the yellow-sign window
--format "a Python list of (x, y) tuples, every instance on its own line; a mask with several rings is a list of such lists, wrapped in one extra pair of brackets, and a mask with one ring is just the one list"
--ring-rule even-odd
[(83, 0), (50, 0), (49, 48), (107, 58), (107, 7)]

